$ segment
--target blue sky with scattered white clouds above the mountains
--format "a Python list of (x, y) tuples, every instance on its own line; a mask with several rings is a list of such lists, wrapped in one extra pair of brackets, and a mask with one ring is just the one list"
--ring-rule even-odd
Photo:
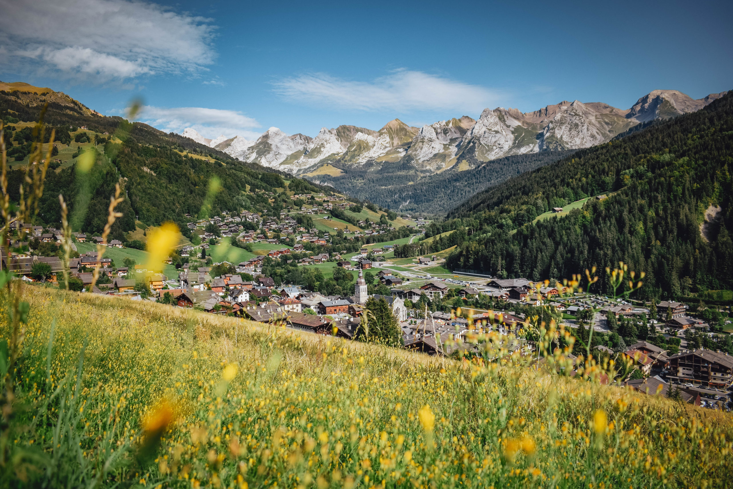
[(163, 130), (315, 136), (733, 86), (733, 2), (0, 0), (0, 80)]

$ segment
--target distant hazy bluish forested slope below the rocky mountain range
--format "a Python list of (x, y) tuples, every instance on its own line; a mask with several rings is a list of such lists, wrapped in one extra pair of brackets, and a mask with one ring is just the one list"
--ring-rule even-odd
[[(570, 151), (548, 151), (528, 155), (513, 155), (482, 163), (473, 158), (470, 169), (446, 170), (436, 174), (421, 174), (410, 162), (394, 168), (377, 166), (343, 166), (342, 174), (319, 174), (314, 177), (320, 183), (338, 188), (358, 199), (369, 200), (380, 207), (402, 212), (446, 213), (468, 197), (485, 190), (490, 185), (507, 180), (517, 174), (529, 172), (572, 154)], [(338, 165), (338, 163), (334, 163)]]

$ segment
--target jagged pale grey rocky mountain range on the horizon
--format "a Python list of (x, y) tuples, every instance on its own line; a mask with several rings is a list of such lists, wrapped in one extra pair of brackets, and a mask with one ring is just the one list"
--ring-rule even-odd
[(463, 116), (413, 128), (399, 119), (380, 130), (340, 125), (322, 128), (314, 138), (288, 136), (269, 128), (257, 141), (240, 136), (205, 139), (191, 128), (183, 136), (216, 148), (241, 161), (259, 163), (294, 174), (316, 172), (329, 164), (336, 168), (370, 163), (410, 163), (419, 172), (463, 170), (509, 155), (591, 147), (614, 138), (641, 122), (668, 119), (698, 111), (726, 92), (693, 99), (677, 90), (654, 90), (630, 109), (578, 100), (546, 106), (533, 112), (485, 109), (478, 120)]

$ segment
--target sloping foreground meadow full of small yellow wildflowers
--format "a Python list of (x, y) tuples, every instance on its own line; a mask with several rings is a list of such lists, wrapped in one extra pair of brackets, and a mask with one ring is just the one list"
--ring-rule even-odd
[(729, 415), (509, 356), (42, 287), (25, 299), (2, 486), (722, 488), (733, 468)]

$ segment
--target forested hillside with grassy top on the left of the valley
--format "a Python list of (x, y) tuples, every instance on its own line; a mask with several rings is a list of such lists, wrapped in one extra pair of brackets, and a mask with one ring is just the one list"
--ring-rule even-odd
[[(12, 146), (12, 139), (17, 141), (15, 135), (22, 132), (12, 124), (34, 122), (44, 108), (43, 120), (50, 125), (45, 141), (51, 128), (55, 128), (62, 136), (56, 138), (58, 144), (70, 144), (70, 125), (86, 126), (95, 141), (103, 141), (87, 150), (94, 163), (89, 169), (81, 168), (74, 161), (72, 166), (48, 171), (38, 214), (44, 224), (57, 224), (61, 220), (59, 194), (62, 194), (70, 206), (70, 221), (75, 230), (101, 232), (116, 183), (120, 183), (126, 196), (118, 206), (124, 216), (112, 229), (112, 238), (119, 240), (125, 240), (124, 232), (136, 228), (136, 218), (147, 225), (174, 221), (183, 232), (188, 232), (185, 214), (196, 216), (202, 210), (213, 177), (219, 182), (218, 191), (207, 202), (213, 213), (239, 209), (279, 212), (283, 207), (282, 203), (270, 202), (265, 192), (284, 187), (284, 173), (237, 161), (175, 133), (166, 134), (139, 122), (130, 124), (121, 117), (101, 116), (59, 92), (0, 92), (0, 118), (10, 124), (5, 131), (7, 144)], [(35, 136), (29, 128), (23, 130), (28, 133), (26, 144), (29, 145)], [(20, 143), (10, 151), (19, 148)], [(11, 199), (18, 200), (24, 178), (23, 166), (9, 172)], [(257, 193), (257, 190), (265, 192)], [(290, 181), (290, 190), (329, 193), (328, 188), (300, 179)]]

